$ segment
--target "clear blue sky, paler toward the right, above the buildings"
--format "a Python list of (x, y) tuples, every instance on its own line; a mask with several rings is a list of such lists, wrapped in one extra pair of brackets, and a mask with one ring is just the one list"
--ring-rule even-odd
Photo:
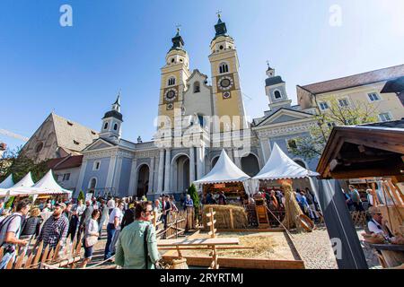
[[(73, 27), (59, 25), (62, 4), (73, 8)], [(329, 25), (332, 4), (342, 9), (340, 27)], [(250, 117), (268, 109), (267, 60), (294, 103), (296, 84), (404, 63), (402, 0), (2, 0), (0, 129), (29, 137), (53, 110), (99, 130), (121, 89), (123, 137), (150, 140), (175, 26), (190, 68), (210, 76), (218, 9), (235, 39)]]

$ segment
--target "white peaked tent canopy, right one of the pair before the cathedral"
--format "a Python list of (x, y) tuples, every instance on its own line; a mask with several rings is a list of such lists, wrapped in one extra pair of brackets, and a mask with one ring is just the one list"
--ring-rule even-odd
[(276, 180), (285, 178), (310, 178), (320, 176), (319, 173), (304, 169), (289, 158), (285, 152), (274, 143), (269, 160), (253, 179)]

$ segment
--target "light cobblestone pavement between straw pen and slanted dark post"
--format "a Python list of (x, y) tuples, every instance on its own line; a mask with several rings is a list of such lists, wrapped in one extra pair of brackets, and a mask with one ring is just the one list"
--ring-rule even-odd
[(292, 233), (294, 246), (304, 261), (306, 269), (337, 269), (329, 233), (319, 226), (310, 233)]

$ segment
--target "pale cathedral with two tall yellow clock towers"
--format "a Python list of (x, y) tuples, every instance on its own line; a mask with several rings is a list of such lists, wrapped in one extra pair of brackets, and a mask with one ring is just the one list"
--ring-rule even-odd
[[(234, 39), (220, 18), (210, 42), (211, 85), (208, 75), (189, 69), (189, 54), (180, 30), (161, 68), (154, 140), (132, 143), (121, 137), (124, 115), (120, 95), (102, 117), (99, 138), (83, 149), (75, 188), (96, 195), (179, 196), (206, 175), (224, 149), (251, 177), (268, 161), (273, 143), (286, 153), (293, 138), (309, 135), (312, 111), (292, 106), (285, 82), (268, 66), (265, 91), (269, 109), (251, 123), (242, 100), (239, 59)], [(294, 161), (315, 169), (316, 161)], [(198, 187), (200, 188), (200, 187)]]

